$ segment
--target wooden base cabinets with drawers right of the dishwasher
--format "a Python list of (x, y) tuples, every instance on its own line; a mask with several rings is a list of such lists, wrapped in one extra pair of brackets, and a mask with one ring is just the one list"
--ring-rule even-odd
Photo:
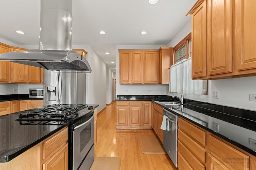
[(178, 169), (255, 170), (256, 156), (179, 117)]

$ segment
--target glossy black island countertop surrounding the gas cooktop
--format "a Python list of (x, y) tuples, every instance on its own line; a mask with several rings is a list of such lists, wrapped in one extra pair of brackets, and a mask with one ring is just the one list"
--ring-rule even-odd
[[(90, 104), (88, 106), (98, 107)], [(27, 110), (0, 116), (0, 162), (12, 160), (70, 124), (70, 121), (52, 121), (51, 125), (21, 125), (19, 121), (15, 121), (21, 113), (26, 112)]]

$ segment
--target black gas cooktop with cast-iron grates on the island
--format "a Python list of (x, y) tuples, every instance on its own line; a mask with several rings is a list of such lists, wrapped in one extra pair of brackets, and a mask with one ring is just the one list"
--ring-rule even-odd
[(92, 114), (93, 106), (86, 104), (60, 104), (23, 111), (15, 120), (20, 121), (20, 124), (58, 125), (60, 121), (70, 121), (74, 123)]

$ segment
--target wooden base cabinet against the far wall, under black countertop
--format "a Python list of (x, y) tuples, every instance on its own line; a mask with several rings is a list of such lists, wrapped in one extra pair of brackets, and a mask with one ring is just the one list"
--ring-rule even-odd
[(151, 129), (151, 102), (116, 101), (117, 129)]

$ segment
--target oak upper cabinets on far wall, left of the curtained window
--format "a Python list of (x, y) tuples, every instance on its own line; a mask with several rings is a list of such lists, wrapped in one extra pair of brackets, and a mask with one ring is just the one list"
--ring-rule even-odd
[(118, 51), (120, 84), (169, 84), (172, 47)]

